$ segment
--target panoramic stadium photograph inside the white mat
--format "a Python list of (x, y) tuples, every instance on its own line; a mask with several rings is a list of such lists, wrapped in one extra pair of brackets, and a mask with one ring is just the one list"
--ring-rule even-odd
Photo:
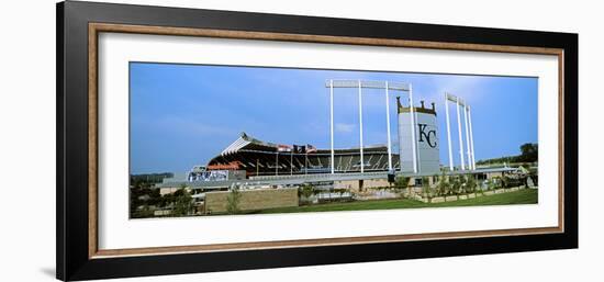
[(130, 218), (538, 203), (538, 78), (130, 63)]

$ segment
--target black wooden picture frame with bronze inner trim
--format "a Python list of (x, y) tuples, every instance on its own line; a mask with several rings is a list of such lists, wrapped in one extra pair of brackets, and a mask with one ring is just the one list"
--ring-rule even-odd
[[(100, 32), (549, 54), (559, 58), (559, 225), (146, 249), (97, 247)], [(555, 99), (555, 98), (552, 98)], [(578, 35), (92, 2), (57, 4), (57, 279), (279, 268), (578, 247)]]

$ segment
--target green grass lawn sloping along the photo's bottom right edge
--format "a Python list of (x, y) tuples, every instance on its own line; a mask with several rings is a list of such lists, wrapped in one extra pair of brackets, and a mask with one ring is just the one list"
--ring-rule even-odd
[(508, 205), (508, 204), (536, 204), (537, 190), (524, 189), (503, 194), (485, 195), (469, 200), (459, 200), (443, 203), (424, 203), (416, 200), (394, 199), (357, 201), (348, 203), (327, 203), (292, 207), (278, 207), (251, 212), (255, 214), (275, 213), (305, 213), (305, 212), (335, 212), (335, 211), (368, 211), (368, 210), (391, 210), (391, 208), (418, 208), (418, 207), (443, 207), (443, 206), (476, 206), (476, 205)]

